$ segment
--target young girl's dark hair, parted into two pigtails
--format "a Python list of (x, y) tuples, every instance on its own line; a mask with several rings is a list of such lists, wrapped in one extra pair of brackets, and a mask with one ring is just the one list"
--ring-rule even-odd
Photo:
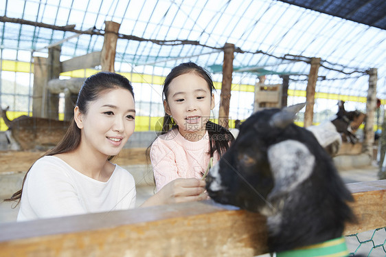
[[(213, 85), (212, 76), (210, 76), (208, 71), (206, 71), (203, 67), (196, 65), (196, 63), (181, 63), (180, 65), (174, 67), (172, 71), (170, 71), (170, 74), (166, 76), (165, 82), (163, 82), (163, 100), (168, 101), (170, 82), (172, 82), (174, 78), (188, 73), (194, 73), (203, 78), (207, 82), (211, 96), (212, 92), (216, 91)], [(177, 124), (174, 122), (172, 117), (165, 112), (163, 116), (161, 135), (168, 133), (168, 131), (174, 129), (175, 127), (177, 127)], [(220, 126), (211, 121), (207, 122), (207, 124), (205, 125), (205, 129), (207, 130), (209, 135), (209, 156), (213, 157), (214, 153), (217, 152), (218, 157), (220, 157), (225, 153), (226, 150), (228, 150), (229, 142), (234, 141), (234, 136), (223, 126)]]

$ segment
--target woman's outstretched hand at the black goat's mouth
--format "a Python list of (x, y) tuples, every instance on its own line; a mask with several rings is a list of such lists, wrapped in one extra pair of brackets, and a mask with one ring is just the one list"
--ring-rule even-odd
[(175, 179), (146, 200), (141, 207), (207, 199), (205, 181), (201, 179)]

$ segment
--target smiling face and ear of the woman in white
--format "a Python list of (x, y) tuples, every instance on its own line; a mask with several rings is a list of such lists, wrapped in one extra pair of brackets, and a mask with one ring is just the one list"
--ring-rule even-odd
[(102, 155), (117, 155), (135, 129), (135, 102), (127, 89), (102, 91), (89, 103), (86, 113), (75, 109), (76, 124), (82, 130), (80, 146)]

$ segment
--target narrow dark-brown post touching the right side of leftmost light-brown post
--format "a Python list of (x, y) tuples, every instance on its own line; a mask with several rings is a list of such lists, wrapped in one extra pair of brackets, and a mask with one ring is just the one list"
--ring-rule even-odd
[[(47, 61), (47, 81), (54, 78), (59, 78), (61, 65), (60, 65), (60, 45), (51, 47), (48, 49), (48, 61)], [(47, 91), (47, 85), (45, 85), (45, 93), (47, 94), (47, 105), (45, 105), (45, 113), (47, 117), (52, 120), (59, 119), (59, 95), (49, 93)]]

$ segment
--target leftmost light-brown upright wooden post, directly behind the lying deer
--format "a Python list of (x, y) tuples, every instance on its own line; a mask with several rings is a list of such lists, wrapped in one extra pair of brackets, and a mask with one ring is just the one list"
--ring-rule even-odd
[(34, 89), (32, 97), (32, 115), (34, 117), (47, 118), (44, 112), (47, 102), (47, 58), (34, 57)]

